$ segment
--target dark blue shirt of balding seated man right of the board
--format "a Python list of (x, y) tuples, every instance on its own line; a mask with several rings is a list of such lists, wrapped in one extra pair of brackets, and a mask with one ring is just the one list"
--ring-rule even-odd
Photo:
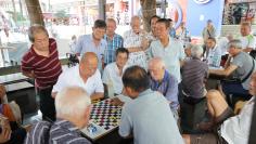
[(165, 70), (164, 78), (161, 82), (151, 78), (151, 89), (161, 92), (170, 103), (170, 107), (178, 109), (178, 81), (167, 70)]

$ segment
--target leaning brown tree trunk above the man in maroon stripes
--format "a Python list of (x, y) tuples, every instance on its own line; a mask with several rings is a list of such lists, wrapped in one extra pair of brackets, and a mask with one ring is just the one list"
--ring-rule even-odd
[(40, 24), (44, 26), (39, 0), (25, 0), (25, 2), (27, 6), (28, 16), (30, 19), (30, 25)]

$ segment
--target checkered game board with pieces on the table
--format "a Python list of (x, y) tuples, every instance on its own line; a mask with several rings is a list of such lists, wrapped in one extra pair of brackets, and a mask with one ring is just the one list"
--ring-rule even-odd
[(81, 132), (91, 140), (113, 131), (119, 126), (121, 107), (111, 105), (111, 99), (92, 105), (90, 121)]

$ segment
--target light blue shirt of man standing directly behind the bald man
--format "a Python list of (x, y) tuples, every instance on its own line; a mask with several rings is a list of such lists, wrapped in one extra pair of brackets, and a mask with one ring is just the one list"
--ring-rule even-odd
[(82, 35), (79, 37), (75, 52), (79, 54), (85, 54), (87, 52), (93, 52), (98, 56), (98, 68), (102, 70), (102, 58), (106, 50), (106, 41), (101, 39), (100, 44), (97, 47), (93, 42), (92, 35)]

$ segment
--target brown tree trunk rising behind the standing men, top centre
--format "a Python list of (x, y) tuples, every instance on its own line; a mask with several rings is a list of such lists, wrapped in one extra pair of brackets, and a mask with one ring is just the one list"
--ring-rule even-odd
[(156, 0), (140, 0), (140, 4), (142, 8), (143, 27), (149, 32), (151, 30), (150, 18), (156, 14)]

